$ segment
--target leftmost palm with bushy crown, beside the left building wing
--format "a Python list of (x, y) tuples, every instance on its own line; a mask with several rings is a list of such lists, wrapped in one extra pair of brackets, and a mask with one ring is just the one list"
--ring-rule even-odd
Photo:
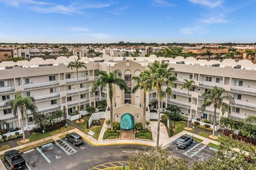
[[(31, 96), (22, 97), (21, 94), (15, 94), (14, 99), (9, 99), (5, 102), (5, 107), (11, 107), (12, 112), (15, 116), (19, 113), (21, 115), (22, 119), (22, 131), (23, 131), (23, 140), (25, 140), (25, 130), (24, 130), (24, 121), (26, 122), (26, 127), (28, 126), (28, 110), (31, 113), (36, 112), (36, 104), (35, 104), (35, 98)], [(20, 120), (20, 117), (19, 117)], [(28, 129), (27, 129), (28, 130)]]

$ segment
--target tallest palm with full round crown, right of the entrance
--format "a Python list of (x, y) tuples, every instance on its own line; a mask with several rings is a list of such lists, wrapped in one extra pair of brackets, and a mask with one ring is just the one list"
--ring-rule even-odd
[(166, 86), (166, 94), (171, 95), (172, 90), (171, 87), (174, 87), (174, 81), (177, 80), (173, 71), (174, 68), (169, 67), (169, 63), (165, 63), (164, 61), (158, 62), (155, 61), (152, 65), (148, 65), (150, 71), (150, 79), (152, 83), (152, 88), (157, 91), (157, 100), (158, 100), (158, 120), (157, 120), (157, 141), (156, 144), (159, 146), (159, 132), (160, 132), (160, 102), (162, 99), (162, 86)]

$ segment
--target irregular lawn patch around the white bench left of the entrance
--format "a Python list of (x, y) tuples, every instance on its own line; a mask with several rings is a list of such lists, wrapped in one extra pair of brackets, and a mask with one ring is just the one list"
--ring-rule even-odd
[(91, 126), (89, 129), (86, 129), (86, 124), (87, 124), (87, 122), (86, 122), (86, 119), (87, 119), (87, 117), (88, 117), (89, 115), (86, 115), (86, 116), (84, 116), (82, 119), (83, 120), (85, 120), (83, 123), (76, 123), (75, 121), (74, 121), (74, 123), (76, 123), (78, 126), (81, 126), (81, 128), (83, 128), (83, 132), (84, 133), (88, 133), (90, 130), (91, 131), (93, 131), (94, 132), (94, 139), (96, 139), (96, 140), (98, 140), (99, 139), (99, 135), (100, 135), (100, 131), (101, 131), (101, 129), (102, 129), (102, 125), (103, 125), (103, 123), (104, 123), (104, 119), (101, 119), (100, 120), (100, 125), (99, 126)]

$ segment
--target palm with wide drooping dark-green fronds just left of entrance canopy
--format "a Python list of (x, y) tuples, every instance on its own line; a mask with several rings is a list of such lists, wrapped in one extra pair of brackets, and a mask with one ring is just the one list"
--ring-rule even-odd
[(113, 128), (113, 94), (114, 87), (117, 85), (121, 90), (128, 91), (128, 86), (124, 79), (122, 79), (122, 74), (119, 71), (110, 72), (109, 74), (105, 71), (98, 71), (95, 74), (99, 79), (93, 83), (92, 91), (94, 92), (98, 87), (107, 86), (108, 96), (110, 100), (110, 126)]

